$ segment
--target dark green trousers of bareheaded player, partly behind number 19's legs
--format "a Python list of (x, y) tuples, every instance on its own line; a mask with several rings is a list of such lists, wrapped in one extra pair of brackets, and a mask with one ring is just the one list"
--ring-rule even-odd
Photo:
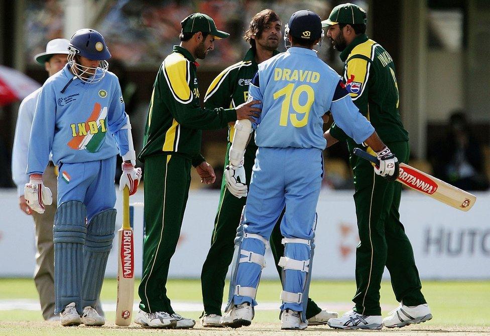
[[(226, 150), (225, 166), (228, 164), (228, 152), (230, 143)], [(255, 161), (255, 150), (249, 148), (245, 152), (244, 169), (247, 182), (250, 182), (252, 167)], [(221, 315), (221, 304), (223, 303), (224, 280), (228, 267), (231, 264), (234, 250), (234, 238), (236, 228), (240, 222), (241, 211), (247, 202), (246, 197), (236, 198), (226, 189), (223, 178), (221, 183), (221, 196), (216, 218), (214, 219), (214, 230), (211, 236), (211, 248), (204, 261), (201, 272), (202, 299), (204, 303), (204, 314)], [(284, 214), (284, 211), (283, 211)], [(281, 244), (283, 236), (279, 224), (281, 215), (271, 234), (271, 251), (274, 255), (276, 269), (281, 277), (282, 268), (278, 265), (279, 259), (284, 256), (284, 246)], [(279, 293), (278, 293), (279, 294)], [(306, 307), (306, 318), (315, 316), (321, 311), (318, 305), (308, 298)]]

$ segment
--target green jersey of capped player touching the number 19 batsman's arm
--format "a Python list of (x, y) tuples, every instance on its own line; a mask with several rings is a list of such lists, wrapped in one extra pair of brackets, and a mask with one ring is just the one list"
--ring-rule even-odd
[(163, 61), (153, 86), (140, 161), (175, 152), (190, 157), (196, 166), (204, 160), (201, 130), (226, 127), (236, 120), (234, 108), (200, 107), (197, 66), (189, 51), (180, 46), (174, 46)]

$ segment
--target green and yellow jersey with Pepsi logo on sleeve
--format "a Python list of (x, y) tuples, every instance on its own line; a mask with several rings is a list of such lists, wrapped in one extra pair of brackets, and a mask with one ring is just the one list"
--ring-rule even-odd
[[(343, 81), (347, 91), (380, 138), (384, 142), (408, 141), (398, 110), (400, 96), (390, 54), (361, 34), (340, 53), (340, 59), (345, 62)], [(358, 146), (335, 123), (330, 127), (330, 134), (346, 140), (350, 152)], [(352, 158), (351, 155), (351, 163)]]

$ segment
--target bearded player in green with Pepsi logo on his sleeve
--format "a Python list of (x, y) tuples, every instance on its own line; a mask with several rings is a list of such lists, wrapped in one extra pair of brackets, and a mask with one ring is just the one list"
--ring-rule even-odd
[[(401, 162), (410, 154), (408, 132), (402, 125), (395, 65), (388, 52), (365, 35), (366, 12), (353, 4), (335, 7), (322, 21), (327, 37), (345, 62), (343, 79), (354, 104), (376, 128), (380, 138)], [(377, 176), (373, 165), (352, 155), (356, 143), (335, 123), (325, 133), (327, 146), (347, 141), (354, 174), (354, 202), (360, 244), (356, 250), (357, 291), (353, 310), (328, 321), (335, 328), (381, 329), (402, 327), (432, 318), (421, 292), (412, 245), (400, 222), (400, 184)], [(370, 147), (362, 149), (373, 153)], [(400, 306), (381, 316), (380, 288), (385, 266)]]

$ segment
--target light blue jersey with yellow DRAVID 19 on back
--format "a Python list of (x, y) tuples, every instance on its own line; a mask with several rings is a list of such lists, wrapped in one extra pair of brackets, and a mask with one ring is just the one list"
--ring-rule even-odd
[(327, 111), (357, 143), (374, 132), (340, 76), (311, 49), (291, 47), (259, 64), (250, 84), (250, 99), (262, 101), (262, 113), (254, 125), (259, 147), (324, 149), (322, 116)]

